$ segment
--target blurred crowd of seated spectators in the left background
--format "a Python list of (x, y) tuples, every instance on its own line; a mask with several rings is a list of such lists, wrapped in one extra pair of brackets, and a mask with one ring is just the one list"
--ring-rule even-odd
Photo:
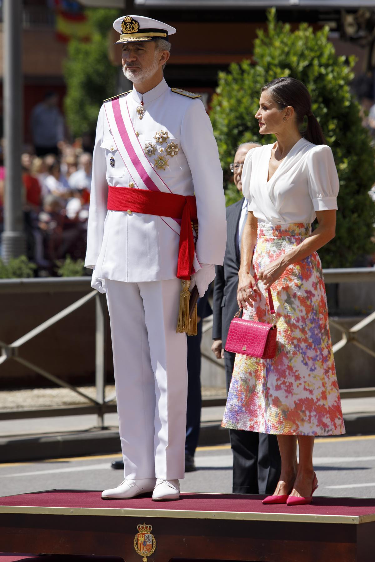
[[(92, 155), (75, 144), (59, 143), (57, 154), (36, 156), (30, 149), (21, 156), (27, 255), (50, 274), (67, 254), (85, 255)], [(5, 173), (0, 166), (0, 230)]]

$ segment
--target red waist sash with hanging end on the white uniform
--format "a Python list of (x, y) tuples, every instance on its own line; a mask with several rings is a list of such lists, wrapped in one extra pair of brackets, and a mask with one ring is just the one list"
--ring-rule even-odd
[(192, 222), (198, 223), (195, 197), (184, 197), (176, 193), (129, 189), (108, 186), (107, 209), (110, 211), (141, 212), (145, 215), (168, 216), (181, 219), (180, 243), (178, 248), (178, 279), (190, 280), (194, 259), (194, 238)]

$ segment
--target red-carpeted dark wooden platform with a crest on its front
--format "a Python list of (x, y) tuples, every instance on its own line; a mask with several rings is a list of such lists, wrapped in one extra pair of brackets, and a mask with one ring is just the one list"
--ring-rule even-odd
[[(311, 505), (287, 507), (264, 506), (261, 496), (104, 501), (100, 492), (52, 490), (0, 498), (0, 545), (77, 562), (373, 562), (375, 500), (317, 496)], [(6, 556), (0, 562), (22, 560)]]

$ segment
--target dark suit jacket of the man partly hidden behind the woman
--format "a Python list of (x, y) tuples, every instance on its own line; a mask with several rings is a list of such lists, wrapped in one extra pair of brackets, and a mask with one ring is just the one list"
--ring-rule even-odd
[(227, 339), (229, 324), (238, 311), (237, 287), (241, 256), (240, 250), (237, 248), (236, 237), (242, 203), (243, 198), (227, 207), (227, 247), (225, 248), (224, 265), (215, 266), (213, 339), (222, 339), (223, 347)]

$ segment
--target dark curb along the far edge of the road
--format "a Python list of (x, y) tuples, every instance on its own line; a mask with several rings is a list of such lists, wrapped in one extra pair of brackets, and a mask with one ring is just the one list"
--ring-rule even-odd
[[(346, 415), (344, 422), (347, 435), (375, 433), (375, 414)], [(220, 427), (220, 422), (201, 424), (199, 446), (227, 443), (229, 432)], [(0, 438), (2, 463), (115, 453), (120, 453), (119, 431), (115, 429)]]

